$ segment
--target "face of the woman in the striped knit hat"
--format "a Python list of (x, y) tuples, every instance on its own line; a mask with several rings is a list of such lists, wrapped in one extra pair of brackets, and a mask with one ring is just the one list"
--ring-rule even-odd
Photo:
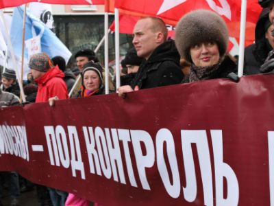
[(96, 91), (100, 87), (99, 75), (92, 70), (88, 70), (84, 73), (84, 86), (88, 90)]

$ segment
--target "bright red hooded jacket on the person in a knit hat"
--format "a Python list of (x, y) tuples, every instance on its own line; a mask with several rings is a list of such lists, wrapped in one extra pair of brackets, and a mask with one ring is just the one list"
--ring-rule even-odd
[(58, 96), (60, 100), (69, 99), (66, 83), (63, 78), (64, 73), (56, 66), (36, 79), (38, 92), (35, 102), (47, 102), (49, 98), (53, 98), (54, 96)]

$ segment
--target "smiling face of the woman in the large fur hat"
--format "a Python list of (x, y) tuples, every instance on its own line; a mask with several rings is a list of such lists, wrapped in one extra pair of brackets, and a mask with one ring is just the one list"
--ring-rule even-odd
[(201, 43), (190, 48), (190, 56), (196, 66), (210, 67), (219, 62), (220, 52), (216, 43)]

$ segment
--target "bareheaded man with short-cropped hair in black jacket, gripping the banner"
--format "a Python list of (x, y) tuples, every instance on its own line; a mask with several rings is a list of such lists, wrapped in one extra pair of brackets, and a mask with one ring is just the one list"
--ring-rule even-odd
[(184, 74), (174, 41), (167, 41), (166, 25), (157, 17), (140, 19), (134, 27), (132, 43), (139, 57), (145, 58), (132, 84), (118, 89), (119, 96), (138, 89), (179, 84)]

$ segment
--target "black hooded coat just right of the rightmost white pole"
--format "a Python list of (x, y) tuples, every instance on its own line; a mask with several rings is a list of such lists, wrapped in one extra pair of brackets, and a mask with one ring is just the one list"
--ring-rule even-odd
[(255, 43), (245, 48), (244, 73), (245, 75), (260, 73), (260, 66), (266, 60), (269, 52), (273, 49), (265, 38), (264, 24), (269, 21), (269, 10), (265, 9), (260, 14), (256, 23)]

